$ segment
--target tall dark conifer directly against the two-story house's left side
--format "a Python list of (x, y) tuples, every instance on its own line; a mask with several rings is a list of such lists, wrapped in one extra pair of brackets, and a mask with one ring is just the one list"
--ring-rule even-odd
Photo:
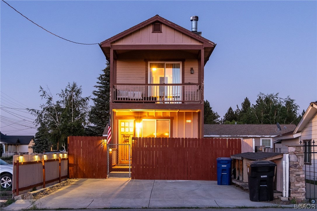
[(110, 115), (110, 64), (107, 62), (106, 65), (98, 77), (97, 85), (94, 86), (97, 90), (93, 91), (96, 97), (92, 98), (94, 105), (89, 114), (92, 125), (87, 128), (87, 133), (92, 136), (102, 135)]

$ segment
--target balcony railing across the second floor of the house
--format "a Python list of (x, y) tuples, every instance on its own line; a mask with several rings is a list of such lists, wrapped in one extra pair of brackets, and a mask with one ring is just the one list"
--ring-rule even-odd
[(113, 102), (200, 103), (201, 84), (113, 84)]

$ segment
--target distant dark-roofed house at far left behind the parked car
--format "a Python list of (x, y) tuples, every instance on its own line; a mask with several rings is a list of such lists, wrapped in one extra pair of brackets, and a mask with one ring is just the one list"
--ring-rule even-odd
[(33, 153), (34, 136), (31, 135), (5, 135), (0, 132), (0, 144), (3, 153)]

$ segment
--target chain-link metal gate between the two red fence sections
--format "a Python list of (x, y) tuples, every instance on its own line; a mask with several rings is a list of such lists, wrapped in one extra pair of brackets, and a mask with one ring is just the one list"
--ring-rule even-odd
[(131, 177), (131, 145), (108, 144), (108, 178)]

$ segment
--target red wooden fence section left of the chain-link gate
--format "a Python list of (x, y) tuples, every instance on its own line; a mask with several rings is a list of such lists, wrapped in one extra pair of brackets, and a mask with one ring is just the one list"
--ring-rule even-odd
[(68, 137), (69, 178), (107, 178), (107, 146), (104, 137)]

